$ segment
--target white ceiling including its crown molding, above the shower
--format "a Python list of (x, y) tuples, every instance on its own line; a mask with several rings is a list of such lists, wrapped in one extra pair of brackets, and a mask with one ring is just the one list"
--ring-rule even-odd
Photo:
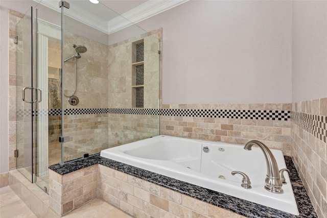
[[(61, 11), (58, 0), (33, 0), (39, 4)], [(66, 0), (69, 9), (64, 14), (105, 34), (111, 34), (169, 10), (189, 0)]]

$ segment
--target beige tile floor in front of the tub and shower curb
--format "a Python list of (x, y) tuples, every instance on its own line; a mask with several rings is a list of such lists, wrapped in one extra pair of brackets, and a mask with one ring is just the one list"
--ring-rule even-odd
[[(0, 188), (0, 217), (26, 217), (37, 218), (30, 208), (20, 200), (16, 193), (9, 187)], [(100, 200), (94, 199), (82, 205), (76, 210), (63, 216), (65, 218), (129, 218), (132, 217), (112, 205)], [(43, 217), (39, 217), (43, 218)]]

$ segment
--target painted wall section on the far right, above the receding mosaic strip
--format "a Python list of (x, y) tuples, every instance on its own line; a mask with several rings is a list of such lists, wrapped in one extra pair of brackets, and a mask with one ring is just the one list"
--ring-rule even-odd
[(292, 6), (292, 102), (327, 96), (327, 1)]

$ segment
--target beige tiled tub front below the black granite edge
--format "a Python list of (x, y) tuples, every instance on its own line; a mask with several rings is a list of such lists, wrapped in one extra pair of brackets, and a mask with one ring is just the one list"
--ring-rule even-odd
[(63, 176), (50, 171), (49, 184), (49, 208), (59, 217), (94, 198), (134, 217), (244, 217), (101, 164)]

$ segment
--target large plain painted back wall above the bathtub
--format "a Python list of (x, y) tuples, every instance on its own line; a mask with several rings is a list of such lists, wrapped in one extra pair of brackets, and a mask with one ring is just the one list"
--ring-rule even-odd
[(137, 23), (163, 29), (162, 103), (290, 103), (291, 6), (189, 1)]

